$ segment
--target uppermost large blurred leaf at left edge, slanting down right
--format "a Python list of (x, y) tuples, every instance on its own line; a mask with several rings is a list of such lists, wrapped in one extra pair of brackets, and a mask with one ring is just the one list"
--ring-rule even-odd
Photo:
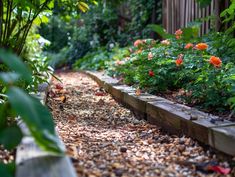
[(7, 52), (6, 50), (0, 49), (0, 61), (6, 64), (11, 70), (20, 74), (24, 80), (28, 82), (32, 81), (31, 71), (16, 55)]

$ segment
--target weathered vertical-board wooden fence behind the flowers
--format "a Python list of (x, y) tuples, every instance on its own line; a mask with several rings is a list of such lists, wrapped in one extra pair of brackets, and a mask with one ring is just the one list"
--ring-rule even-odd
[(200, 8), (196, 0), (163, 0), (163, 27), (168, 33), (186, 27), (189, 22), (206, 17), (214, 20), (203, 21), (200, 35), (208, 33), (211, 28), (220, 29), (220, 12), (229, 6), (229, 0), (212, 0), (206, 8)]

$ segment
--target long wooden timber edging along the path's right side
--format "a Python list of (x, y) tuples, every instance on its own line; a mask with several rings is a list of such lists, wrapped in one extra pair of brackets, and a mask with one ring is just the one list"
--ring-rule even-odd
[[(165, 98), (141, 93), (103, 72), (80, 71), (90, 76), (140, 118), (170, 133), (184, 134), (227, 155), (235, 156), (235, 123)], [(220, 120), (220, 121), (219, 121)]]

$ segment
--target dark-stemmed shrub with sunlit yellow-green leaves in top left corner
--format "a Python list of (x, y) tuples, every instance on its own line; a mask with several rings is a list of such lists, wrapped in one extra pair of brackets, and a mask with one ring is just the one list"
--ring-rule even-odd
[[(47, 22), (53, 1), (0, 1), (0, 46), (20, 54), (33, 24)], [(44, 12), (42, 14), (42, 12)]]

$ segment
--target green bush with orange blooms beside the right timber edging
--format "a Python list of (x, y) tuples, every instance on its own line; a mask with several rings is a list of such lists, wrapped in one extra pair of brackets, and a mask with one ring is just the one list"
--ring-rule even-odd
[(114, 63), (108, 70), (112, 76), (144, 91), (176, 93), (178, 101), (209, 112), (229, 110), (231, 84), (227, 78), (233, 74), (235, 63), (232, 57), (222, 58), (219, 49), (214, 48), (218, 40), (210, 38), (187, 41), (184, 30), (179, 29), (174, 37), (160, 42), (137, 40), (128, 60), (120, 58), (121, 64), (115, 67)]

